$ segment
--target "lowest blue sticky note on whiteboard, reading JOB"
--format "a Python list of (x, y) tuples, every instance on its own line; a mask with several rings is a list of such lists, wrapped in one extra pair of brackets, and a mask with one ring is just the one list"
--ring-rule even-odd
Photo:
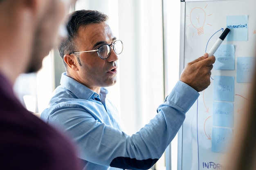
[(216, 128), (212, 129), (211, 151), (226, 153), (233, 138), (231, 128)]

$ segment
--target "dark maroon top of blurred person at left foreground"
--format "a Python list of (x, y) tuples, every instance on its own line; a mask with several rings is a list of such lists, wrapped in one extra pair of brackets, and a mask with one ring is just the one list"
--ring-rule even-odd
[(71, 142), (29, 113), (1, 74), (0, 170), (81, 170)]

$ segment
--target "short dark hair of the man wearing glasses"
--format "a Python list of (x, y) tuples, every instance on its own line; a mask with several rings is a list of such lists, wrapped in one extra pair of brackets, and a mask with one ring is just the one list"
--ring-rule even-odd
[[(100, 11), (79, 10), (71, 13), (67, 20), (67, 38), (65, 38), (58, 47), (59, 54), (63, 59), (65, 54), (76, 51), (74, 39), (78, 34), (80, 26), (86, 26), (94, 23), (101, 23), (108, 20), (108, 16)], [(65, 62), (63, 61), (64, 65)]]

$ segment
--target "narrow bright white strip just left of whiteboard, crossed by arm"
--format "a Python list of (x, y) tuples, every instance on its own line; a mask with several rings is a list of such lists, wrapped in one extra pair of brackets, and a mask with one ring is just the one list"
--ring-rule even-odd
[[(164, 2), (165, 92), (179, 79), (180, 60), (180, 0)], [(177, 170), (177, 135), (166, 150), (166, 170)]]

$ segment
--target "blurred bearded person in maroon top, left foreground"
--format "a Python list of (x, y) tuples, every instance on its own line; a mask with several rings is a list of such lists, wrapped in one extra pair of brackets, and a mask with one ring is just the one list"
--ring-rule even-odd
[(0, 169), (79, 170), (72, 142), (27, 111), (13, 84), (56, 45), (71, 0), (0, 0)]

